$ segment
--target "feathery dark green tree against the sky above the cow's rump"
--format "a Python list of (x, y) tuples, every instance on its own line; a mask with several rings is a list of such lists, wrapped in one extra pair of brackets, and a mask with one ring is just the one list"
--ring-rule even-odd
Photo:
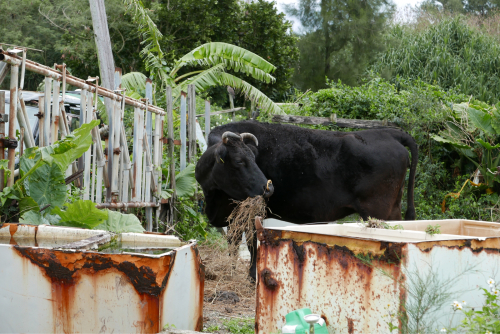
[(358, 83), (383, 50), (382, 34), (393, 5), (390, 0), (300, 0), (287, 12), (304, 27), (294, 83), (317, 90), (326, 86), (325, 77)]

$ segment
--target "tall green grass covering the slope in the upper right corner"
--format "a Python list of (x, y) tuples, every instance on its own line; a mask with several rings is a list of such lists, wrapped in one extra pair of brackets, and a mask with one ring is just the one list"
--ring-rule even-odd
[(372, 69), (385, 77), (422, 79), (489, 103), (500, 100), (500, 15), (479, 18), (414, 11), (394, 20), (389, 47)]

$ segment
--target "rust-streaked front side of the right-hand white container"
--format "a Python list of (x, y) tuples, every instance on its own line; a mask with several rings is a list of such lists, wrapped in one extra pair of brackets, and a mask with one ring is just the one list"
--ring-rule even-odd
[[(405, 243), (269, 229), (259, 232), (256, 333), (278, 330), (275, 327), (284, 323), (285, 314), (303, 307), (310, 307), (313, 312), (323, 311), (322, 317), (328, 325), (336, 324), (341, 317), (346, 319), (347, 313), (349, 333), (373, 331), (375, 327), (371, 328), (366, 314), (374, 312), (379, 303), (374, 302), (377, 290), (372, 285), (378, 284), (380, 278), (373, 281), (376, 270), (371, 261), (377, 261), (377, 267), (394, 274), (394, 286), (389, 285), (387, 293), (396, 298), (405, 296), (397, 284), (400, 266), (406, 261)], [(276, 293), (277, 290), (280, 292)], [(333, 306), (329, 296), (350, 301)], [(356, 314), (354, 309), (361, 313)], [(325, 313), (334, 317), (327, 321)], [(357, 317), (360, 319), (355, 320)]]

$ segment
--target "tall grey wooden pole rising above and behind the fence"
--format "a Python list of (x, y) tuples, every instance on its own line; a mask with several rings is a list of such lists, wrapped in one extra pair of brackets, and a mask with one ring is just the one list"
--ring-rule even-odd
[[(115, 63), (113, 61), (113, 51), (111, 49), (111, 38), (109, 37), (108, 21), (106, 18), (106, 7), (104, 0), (89, 0), (90, 13), (92, 15), (92, 25), (94, 28), (95, 43), (97, 46), (97, 56), (99, 59), (99, 73), (101, 76), (102, 86), (107, 89), (113, 89), (114, 86), (114, 71)], [(109, 147), (112, 151), (115, 147), (113, 143), (114, 117), (113, 117), (113, 101), (110, 98), (104, 98), (106, 112), (108, 114), (109, 125)], [(108, 152), (108, 180), (112, 181), (113, 175), (113, 154)], [(106, 202), (111, 202), (111, 184), (106, 182)], [(99, 190), (99, 189), (98, 189)]]

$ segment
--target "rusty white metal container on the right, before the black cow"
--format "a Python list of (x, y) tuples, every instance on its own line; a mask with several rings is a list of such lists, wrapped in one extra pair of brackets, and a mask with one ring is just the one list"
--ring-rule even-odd
[[(389, 333), (389, 322), (401, 325), (391, 315), (415, 304), (412, 284), (426, 277), (451, 287), (467, 306), (484, 304), (479, 288), (500, 269), (500, 224), (389, 224), (404, 230), (357, 224), (262, 228), (257, 219), (256, 333), (279, 332), (287, 313), (305, 307), (322, 316), (330, 333)], [(429, 224), (439, 224), (441, 234), (427, 234)], [(433, 310), (433, 330), (460, 323), (453, 301)]]

